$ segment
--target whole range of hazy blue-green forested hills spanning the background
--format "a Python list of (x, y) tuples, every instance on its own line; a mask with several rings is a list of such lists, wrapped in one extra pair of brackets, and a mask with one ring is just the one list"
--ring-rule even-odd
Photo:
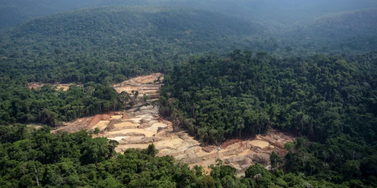
[[(0, 56), (6, 59), (0, 70), (29, 81), (109, 83), (169, 70), (192, 54), (222, 54), (236, 48), (276, 55), (363, 52), (377, 48), (376, 15), (375, 9), (345, 12), (274, 30), (192, 9), (83, 9), (3, 31)], [(51, 74), (43, 74), (46, 71)], [(78, 76), (83, 72), (85, 76)], [(106, 80), (99, 79), (101, 74), (107, 75)]]

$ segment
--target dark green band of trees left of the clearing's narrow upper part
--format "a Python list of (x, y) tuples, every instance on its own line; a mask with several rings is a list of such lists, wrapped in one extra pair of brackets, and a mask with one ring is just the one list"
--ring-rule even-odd
[(56, 91), (51, 85), (39, 90), (22, 83), (0, 78), (0, 123), (41, 122), (56, 126), (82, 116), (115, 111), (121, 107), (112, 87), (88, 83), (72, 85), (68, 91)]

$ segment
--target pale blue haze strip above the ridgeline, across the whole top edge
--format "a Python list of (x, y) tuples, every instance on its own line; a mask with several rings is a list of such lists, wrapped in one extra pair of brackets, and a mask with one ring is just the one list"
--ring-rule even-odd
[(324, 14), (376, 8), (377, 2), (373, 0), (2, 0), (0, 28), (15, 26), (30, 18), (52, 13), (121, 5), (195, 8), (281, 26), (292, 25)]

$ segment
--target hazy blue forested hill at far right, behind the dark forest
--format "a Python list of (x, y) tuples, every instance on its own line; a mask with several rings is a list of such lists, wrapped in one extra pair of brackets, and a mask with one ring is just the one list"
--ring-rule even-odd
[[(326, 53), (334, 50), (374, 51), (377, 49), (377, 9), (364, 9), (317, 17), (288, 30), (286, 37)], [(293, 44), (293, 46), (295, 46)]]

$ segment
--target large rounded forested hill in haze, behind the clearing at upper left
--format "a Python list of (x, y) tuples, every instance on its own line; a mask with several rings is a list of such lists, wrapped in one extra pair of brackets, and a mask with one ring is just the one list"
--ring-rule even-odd
[(37, 18), (2, 33), (1, 76), (110, 83), (166, 71), (193, 53), (249, 47), (260, 24), (206, 11), (117, 7)]

